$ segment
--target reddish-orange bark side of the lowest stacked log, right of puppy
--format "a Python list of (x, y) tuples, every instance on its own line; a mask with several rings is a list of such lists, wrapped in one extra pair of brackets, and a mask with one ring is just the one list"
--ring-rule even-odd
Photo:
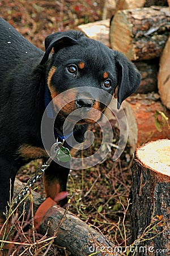
[[(162, 131), (156, 129), (155, 114), (162, 112), (169, 118), (170, 112), (164, 108), (162, 102), (159, 101), (159, 95), (156, 93), (137, 94), (130, 96), (127, 101), (133, 108), (134, 116), (138, 126), (138, 142), (137, 146), (141, 146), (148, 141), (156, 141), (157, 139), (170, 139), (168, 126), (162, 127)], [(163, 124), (164, 120), (159, 115), (158, 121)]]

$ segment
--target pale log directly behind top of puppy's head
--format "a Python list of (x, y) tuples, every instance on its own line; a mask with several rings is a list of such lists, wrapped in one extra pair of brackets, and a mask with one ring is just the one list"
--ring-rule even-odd
[(109, 28), (110, 20), (99, 20), (78, 26), (79, 30), (86, 34), (89, 38), (98, 40), (99, 42), (110, 47)]

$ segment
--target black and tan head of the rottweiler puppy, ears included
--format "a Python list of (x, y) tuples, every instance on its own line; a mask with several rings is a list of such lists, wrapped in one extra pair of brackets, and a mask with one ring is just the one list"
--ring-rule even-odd
[[(53, 55), (49, 58), (52, 49)], [(82, 123), (95, 122), (111, 101), (116, 87), (119, 109), (141, 81), (133, 63), (122, 53), (78, 31), (47, 36), (45, 50), (40, 64), (48, 69), (46, 83), (54, 99), (54, 108), (61, 110), (59, 113), (63, 117), (81, 109)], [(94, 109), (99, 111), (92, 111)]]

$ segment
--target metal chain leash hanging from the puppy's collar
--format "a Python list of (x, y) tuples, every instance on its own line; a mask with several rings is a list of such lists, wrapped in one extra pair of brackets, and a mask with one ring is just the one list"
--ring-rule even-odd
[[(56, 157), (56, 155), (58, 154), (58, 144), (61, 144), (61, 146), (63, 145), (63, 142), (56, 142), (52, 145), (51, 147), (51, 156), (49, 157), (49, 159), (45, 162), (45, 164), (42, 164), (41, 167), (36, 171), (36, 174), (31, 177), (31, 179), (29, 179), (27, 181), (27, 184), (25, 184), (25, 186), (23, 187), (22, 191), (18, 193), (18, 195), (15, 196), (14, 198), (14, 204), (18, 204), (20, 200), (22, 200), (24, 198), (25, 195), (27, 195), (27, 192), (29, 191), (29, 188), (31, 188), (38, 179), (40, 179), (40, 177), (42, 177), (44, 175), (45, 170), (50, 166), (50, 163), (52, 162), (52, 160)], [(57, 150), (56, 147), (58, 146)]]

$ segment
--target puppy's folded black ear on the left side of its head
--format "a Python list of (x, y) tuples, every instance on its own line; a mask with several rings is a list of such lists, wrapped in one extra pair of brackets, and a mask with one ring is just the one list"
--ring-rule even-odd
[(45, 54), (40, 64), (43, 65), (48, 60), (52, 48), (54, 48), (54, 52), (57, 52), (63, 47), (72, 46), (76, 43), (77, 40), (74, 38), (73, 32), (56, 32), (52, 35), (47, 36), (45, 38)]

